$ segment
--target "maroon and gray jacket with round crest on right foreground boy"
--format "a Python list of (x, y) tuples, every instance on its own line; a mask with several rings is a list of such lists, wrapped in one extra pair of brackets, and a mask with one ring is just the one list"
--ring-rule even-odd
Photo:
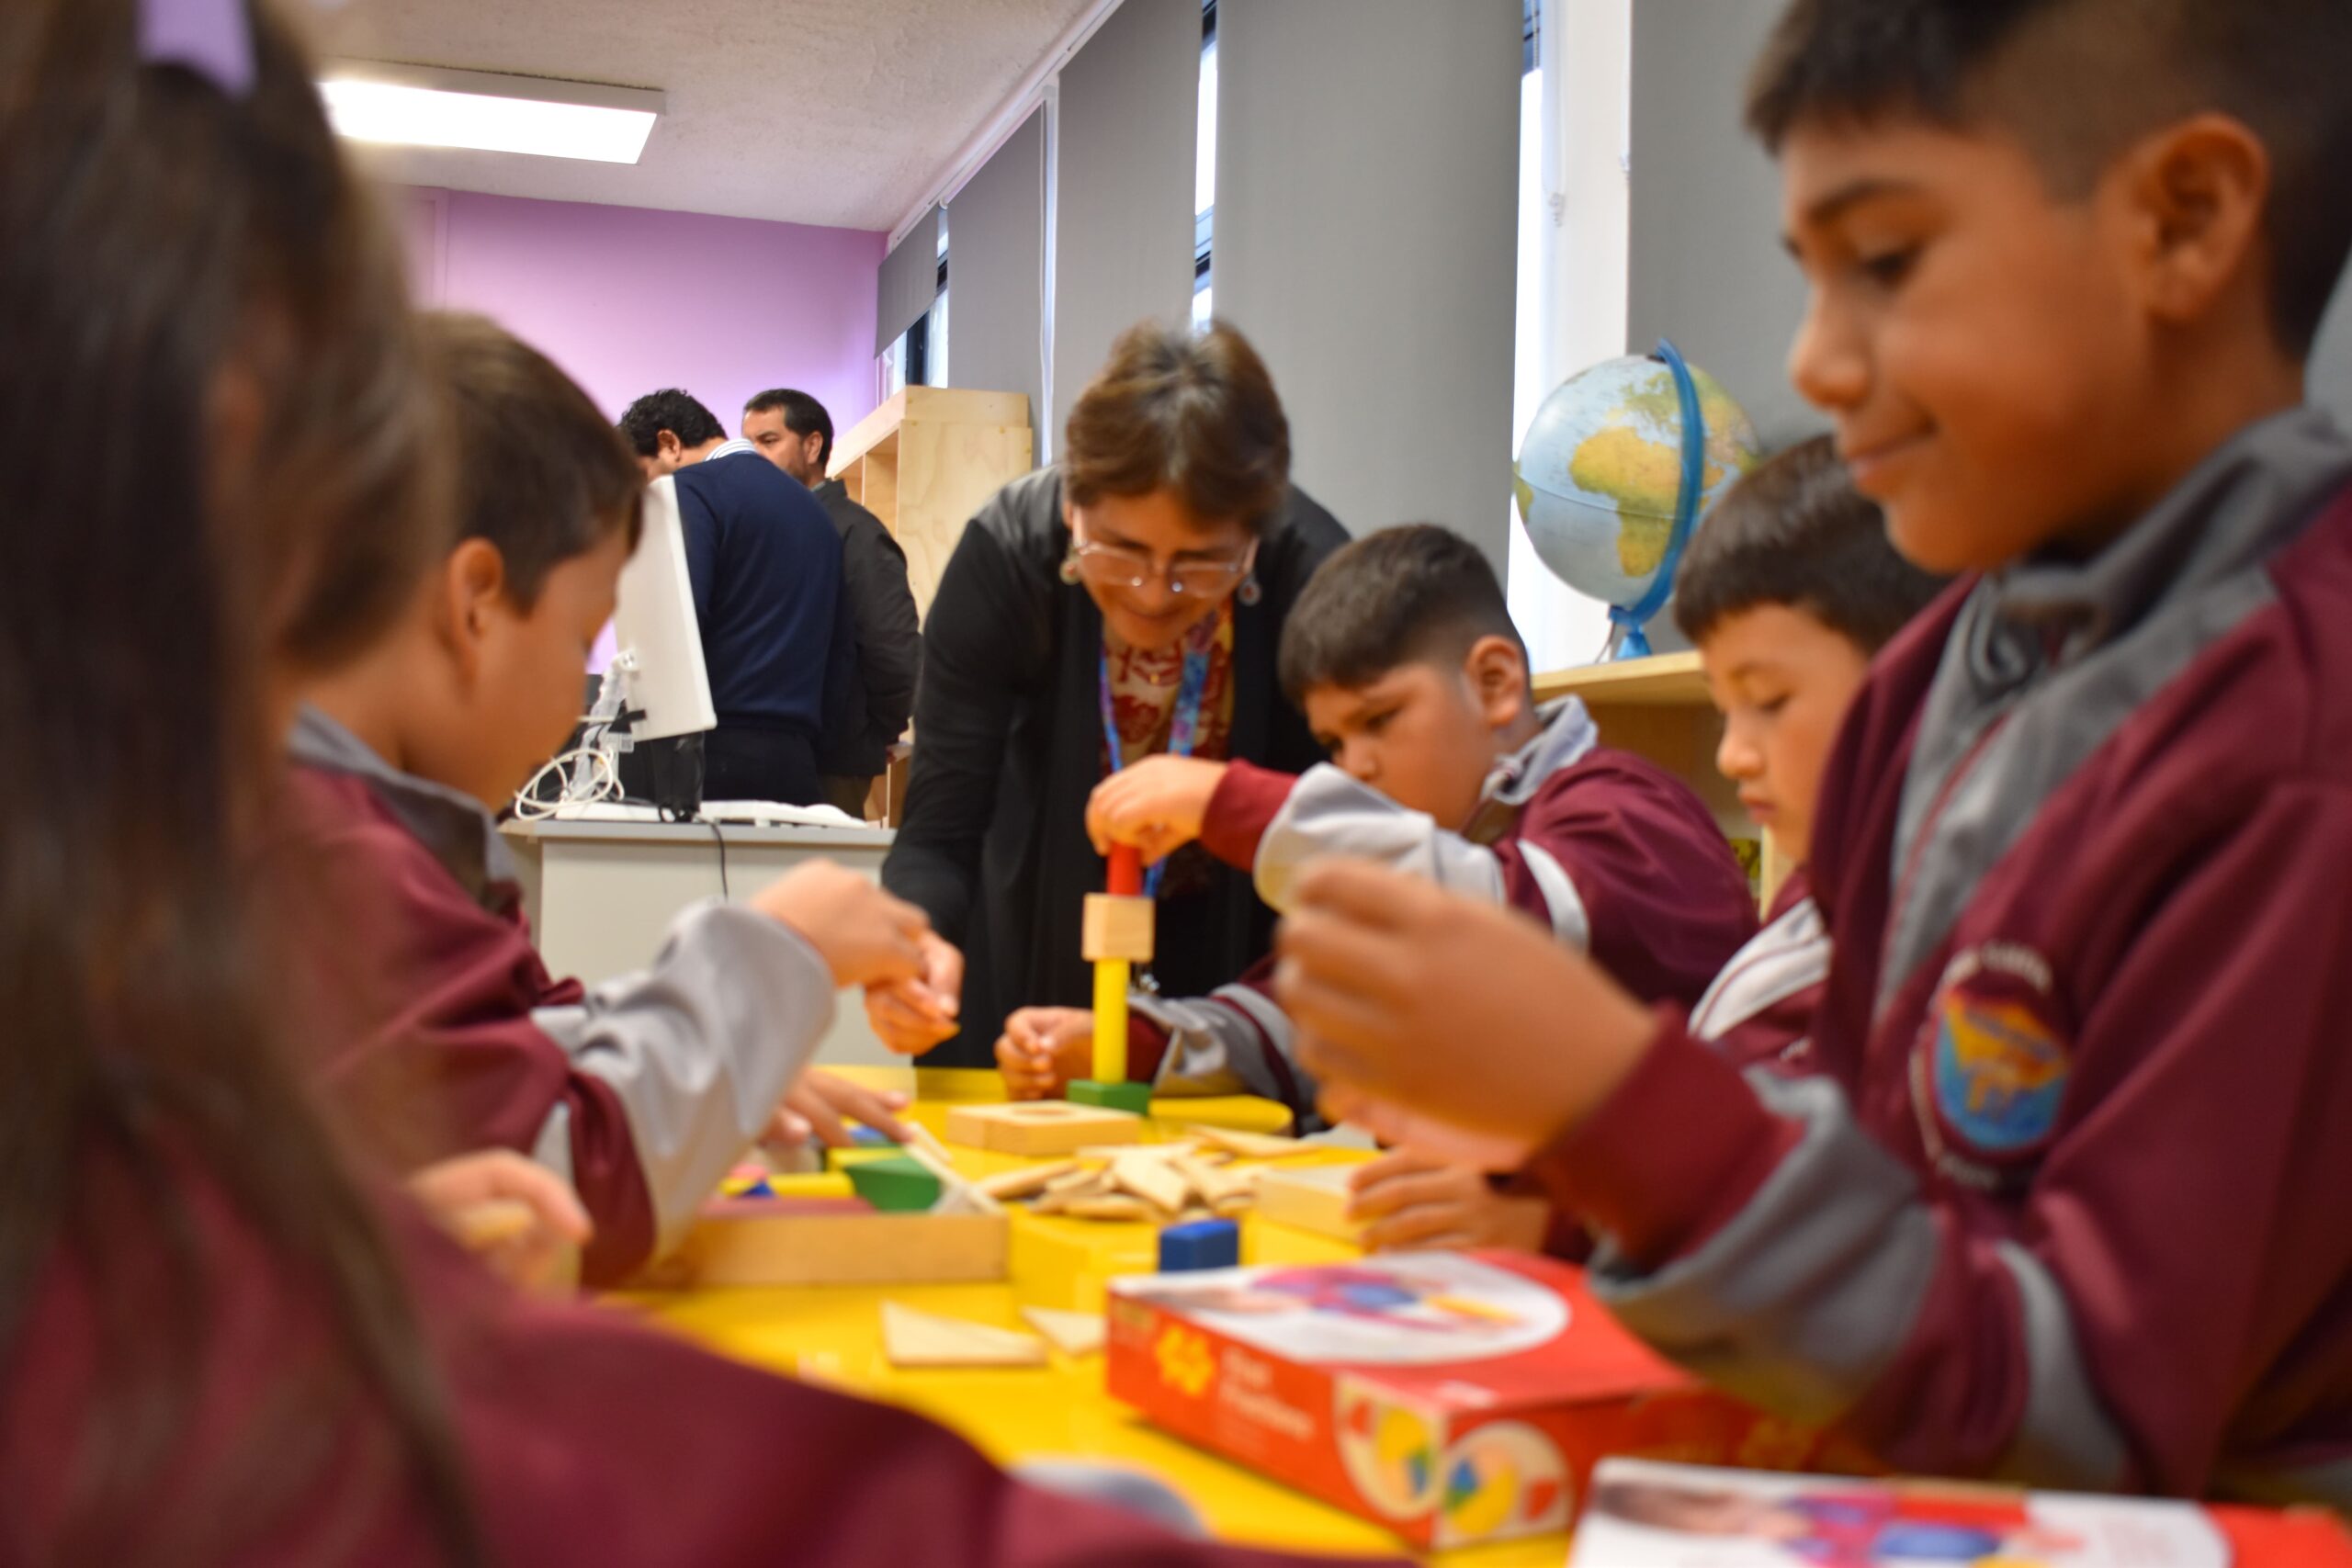
[(2352, 1505), (2352, 444), (1955, 588), (1823, 780), (1813, 1072), (1545, 1150), (1651, 1345), (1900, 1469)]

